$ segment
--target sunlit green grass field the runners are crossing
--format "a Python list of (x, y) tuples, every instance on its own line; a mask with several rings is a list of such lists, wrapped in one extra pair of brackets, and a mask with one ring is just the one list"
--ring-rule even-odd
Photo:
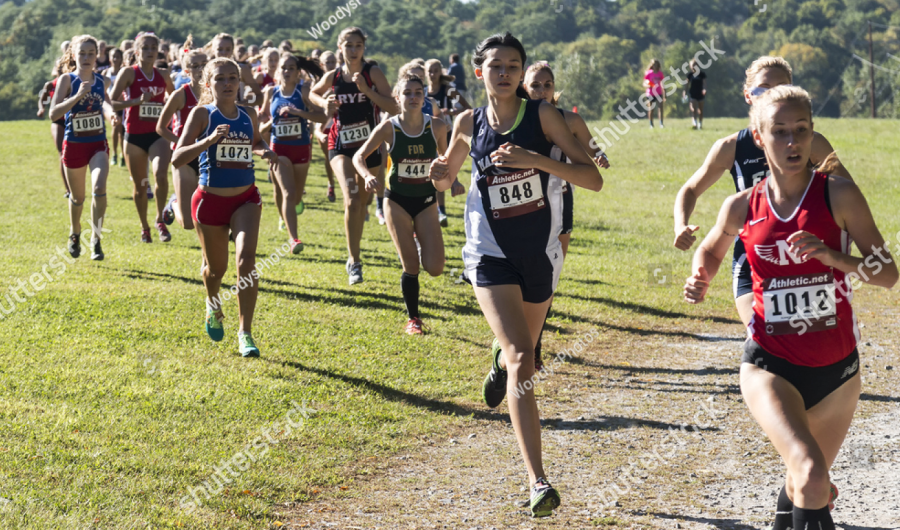
[[(744, 123), (710, 119), (700, 132), (684, 120), (663, 130), (642, 123), (609, 149), (603, 191), (577, 192), (552, 332), (643, 335), (671, 329), (677, 318), (681, 331), (700, 333), (736, 320), (727, 276), (716, 279), (705, 305), (681, 301), (690, 255), (671, 246), (671, 219), (675, 193), (709, 146)], [(896, 241), (896, 123), (822, 119), (816, 126), (859, 182), (885, 237)], [(5, 295), (65, 247), (68, 213), (49, 124), (4, 122), (0, 135)], [(263, 171), (257, 185), (260, 259), (286, 235), (277, 231)], [(226, 339), (216, 344), (204, 332), (195, 234), (176, 224), (172, 242), (154, 233), (152, 245), (141, 244), (130, 180), (112, 169), (106, 260), (83, 255), (0, 314), (0, 527), (277, 527), (273, 505), (340, 495), (421, 437), (486, 414), (480, 387), (490, 331), (471, 288), (451, 276), (462, 267), (463, 201), (448, 201), (445, 274), (423, 275), (428, 334), (411, 338), (403, 333), (401, 270), (387, 230), (373, 211), (363, 242), (366, 281), (348, 287), (341, 206), (325, 200), (325, 185), (316, 153), (299, 219), (306, 248), (263, 274), (254, 322), (262, 357), (248, 360), (237, 354), (235, 300), (225, 305)], [(694, 220), (702, 234), (732, 191), (726, 175), (700, 200)], [(85, 226), (88, 219), (86, 208)], [(230, 286), (233, 263), (228, 278)], [(863, 287), (860, 298), (870, 290)], [(617, 354), (636, 364), (656, 355), (621, 348)], [(292, 403), (315, 412), (286, 428)], [(196, 510), (179, 507), (253, 442), (265, 452), (233, 468), (237, 476), (221, 492), (201, 495)]]

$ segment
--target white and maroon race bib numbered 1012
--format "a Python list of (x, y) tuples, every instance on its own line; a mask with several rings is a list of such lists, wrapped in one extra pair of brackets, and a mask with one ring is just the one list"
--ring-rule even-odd
[(830, 272), (767, 278), (763, 303), (768, 335), (837, 327), (834, 275)]

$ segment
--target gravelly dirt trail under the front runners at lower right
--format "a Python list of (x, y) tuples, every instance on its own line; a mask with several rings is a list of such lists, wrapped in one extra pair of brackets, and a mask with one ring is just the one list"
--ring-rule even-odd
[[(832, 471), (844, 530), (900, 528), (897, 311), (875, 308), (891, 298), (860, 315), (863, 398)], [(504, 404), (347, 491), (276, 507), (282, 528), (768, 528), (782, 464), (741, 399), (740, 327), (693, 321), (691, 335), (622, 324), (597, 328), (536, 387), (544, 465), (563, 501), (552, 518), (523, 507), (527, 479)], [(576, 336), (560, 339), (547, 349)]]

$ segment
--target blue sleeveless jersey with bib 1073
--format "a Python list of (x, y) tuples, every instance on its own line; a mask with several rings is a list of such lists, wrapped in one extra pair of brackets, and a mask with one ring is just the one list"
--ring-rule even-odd
[(211, 188), (235, 188), (253, 184), (253, 121), (240, 106), (238, 116), (228, 119), (215, 105), (205, 105), (209, 112), (206, 138), (219, 125), (230, 125), (228, 136), (200, 153), (200, 185)]

